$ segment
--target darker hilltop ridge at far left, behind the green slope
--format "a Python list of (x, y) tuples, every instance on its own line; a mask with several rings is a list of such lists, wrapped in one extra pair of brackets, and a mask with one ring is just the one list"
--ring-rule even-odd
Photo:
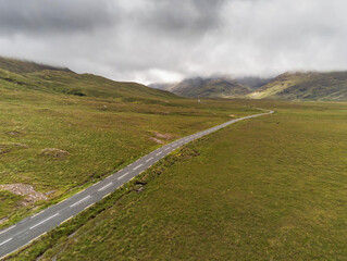
[(12, 73), (34, 73), (45, 70), (72, 72), (67, 67), (55, 67), (46, 64), (39, 64), (35, 62), (28, 62), (24, 60), (16, 60), (10, 58), (0, 57), (0, 69), (7, 70)]

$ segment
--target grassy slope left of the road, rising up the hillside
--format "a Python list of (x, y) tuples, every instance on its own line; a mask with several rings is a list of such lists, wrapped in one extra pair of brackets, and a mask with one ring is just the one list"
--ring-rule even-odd
[[(10, 219), (1, 227), (157, 148), (150, 140), (156, 132), (175, 138), (224, 122), (231, 113), (252, 113), (239, 104), (191, 102), (94, 75), (5, 70), (0, 70), (0, 184), (33, 185), (49, 197), (48, 202), (23, 206), (21, 197), (1, 194), (0, 220)], [(45, 157), (45, 148), (70, 156)]]

